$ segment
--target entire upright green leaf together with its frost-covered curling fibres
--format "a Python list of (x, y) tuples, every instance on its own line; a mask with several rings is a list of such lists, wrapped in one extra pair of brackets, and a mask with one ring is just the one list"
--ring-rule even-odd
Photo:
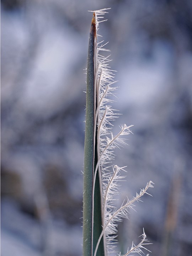
[[(109, 8), (110, 9), (110, 8)], [(99, 23), (109, 9), (93, 12), (89, 37), (87, 57), (87, 89), (86, 89), (86, 127), (84, 151), (84, 193), (83, 193), (83, 256), (107, 256), (113, 252), (117, 243), (118, 222), (128, 218), (128, 210), (134, 209), (134, 203), (141, 201), (141, 197), (153, 182), (147, 183), (140, 193), (131, 200), (116, 208), (114, 196), (119, 194), (121, 181), (126, 172), (124, 167), (111, 165), (114, 160), (114, 149), (126, 145), (125, 136), (131, 132), (132, 126), (126, 124), (120, 127), (116, 135), (112, 133), (111, 124), (119, 114), (110, 105), (111, 96), (117, 87), (114, 84), (114, 70), (111, 70), (110, 55), (104, 57), (101, 51), (108, 51), (104, 47), (107, 43), (97, 42)], [(127, 255), (142, 255), (145, 245), (149, 245), (143, 230), (141, 241), (132, 244)], [(146, 249), (147, 250), (147, 249)], [(148, 251), (148, 250), (147, 250)], [(119, 256), (123, 256), (121, 253)]]

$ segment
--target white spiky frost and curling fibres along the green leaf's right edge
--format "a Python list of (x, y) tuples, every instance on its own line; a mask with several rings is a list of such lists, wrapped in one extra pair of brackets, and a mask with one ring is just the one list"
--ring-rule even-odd
[[(109, 8), (110, 9), (110, 8)], [(107, 13), (108, 9), (102, 9), (93, 11), (96, 22), (96, 39), (99, 36), (97, 34), (99, 23), (106, 21), (101, 20), (103, 15)], [(96, 43), (94, 52), (95, 62), (95, 134), (97, 134), (97, 156), (98, 161), (94, 174), (94, 185), (96, 180), (96, 173), (98, 172), (100, 178), (100, 192), (101, 192), (101, 214), (102, 214), (102, 233), (98, 239), (97, 246), (94, 252), (96, 256), (98, 245), (102, 238), (104, 238), (105, 255), (108, 252), (114, 251), (117, 237), (117, 223), (121, 222), (123, 218), (128, 218), (128, 210), (133, 209), (136, 201), (141, 201), (140, 198), (147, 193), (149, 187), (153, 187), (153, 182), (149, 182), (146, 187), (136, 194), (131, 200), (127, 199), (122, 206), (117, 209), (114, 205), (114, 196), (119, 193), (119, 182), (124, 179), (125, 176), (122, 172), (125, 172), (124, 167), (118, 167), (117, 165), (108, 166), (114, 159), (114, 149), (126, 145), (125, 135), (131, 133), (130, 127), (126, 124), (120, 127), (119, 133), (113, 135), (111, 121), (114, 121), (118, 114), (114, 113), (115, 110), (108, 105), (113, 100), (110, 96), (114, 96), (114, 91), (117, 87), (114, 87), (116, 81), (114, 80), (114, 70), (111, 70), (108, 65), (110, 57), (104, 57), (100, 54), (101, 51), (109, 51), (105, 49), (107, 43), (103, 44), (103, 41)], [(97, 131), (97, 132), (96, 132)], [(93, 188), (94, 191), (94, 188)], [(94, 192), (93, 192), (94, 193)], [(93, 195), (94, 199), (94, 195)], [(93, 200), (94, 208), (94, 200)], [(143, 230), (142, 239), (138, 245), (132, 244), (128, 249), (126, 255), (137, 254), (141, 255), (142, 249), (145, 249), (145, 245), (148, 245), (149, 241), (146, 239), (146, 235)], [(147, 250), (147, 249), (146, 249)], [(121, 253), (119, 256), (122, 256)]]

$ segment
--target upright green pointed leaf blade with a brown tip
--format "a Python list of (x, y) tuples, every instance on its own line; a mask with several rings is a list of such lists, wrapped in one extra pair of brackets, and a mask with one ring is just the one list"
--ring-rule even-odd
[[(92, 209), (93, 176), (97, 164), (97, 132), (95, 127), (96, 95), (95, 95), (95, 48), (96, 21), (95, 14), (91, 22), (89, 50), (87, 57), (87, 88), (86, 88), (86, 126), (84, 149), (84, 194), (83, 194), (83, 255), (90, 256), (96, 247), (102, 232), (100, 181), (97, 174), (94, 193), (94, 210)], [(94, 214), (94, 222), (92, 221)], [(97, 255), (104, 255), (103, 242), (98, 247)]]

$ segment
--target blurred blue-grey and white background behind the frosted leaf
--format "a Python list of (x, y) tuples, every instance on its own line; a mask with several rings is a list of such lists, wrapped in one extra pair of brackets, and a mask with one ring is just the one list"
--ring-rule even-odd
[[(1, 0), (1, 255), (82, 255), (86, 57), (92, 14), (134, 124), (120, 202), (152, 180), (119, 224), (119, 247), (192, 255), (192, 1)], [(99, 38), (100, 39), (100, 38)]]

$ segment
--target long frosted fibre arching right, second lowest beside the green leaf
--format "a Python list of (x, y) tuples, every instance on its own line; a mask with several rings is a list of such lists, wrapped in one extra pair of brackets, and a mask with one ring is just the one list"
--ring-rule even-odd
[(111, 216), (111, 218), (108, 220), (108, 222), (107, 222), (107, 223), (105, 224), (105, 226), (103, 227), (103, 230), (102, 230), (102, 232), (101, 232), (101, 235), (100, 235), (100, 237), (99, 237), (99, 239), (98, 239), (98, 242), (97, 242), (97, 245), (96, 245), (96, 248), (95, 248), (94, 256), (96, 256), (97, 248), (98, 248), (98, 246), (99, 246), (99, 243), (100, 243), (100, 241), (101, 241), (101, 238), (102, 238), (102, 236), (103, 236), (103, 234), (104, 234), (104, 232), (105, 232), (105, 230), (106, 230), (108, 224), (111, 222), (111, 220), (112, 220), (119, 212), (121, 212), (124, 208), (126, 208), (126, 207), (131, 207), (132, 204), (133, 204), (135, 201), (138, 201), (139, 198), (142, 197), (142, 196), (146, 193), (146, 191), (148, 190), (149, 187), (153, 187), (153, 186), (151, 185), (152, 183), (153, 183), (152, 181), (148, 182), (148, 184), (146, 185), (145, 189), (144, 189), (143, 191), (141, 191), (140, 194), (139, 194), (137, 197), (134, 197), (131, 201), (129, 201), (128, 203), (124, 204), (124, 206), (122, 206), (121, 208), (119, 208), (119, 209)]

